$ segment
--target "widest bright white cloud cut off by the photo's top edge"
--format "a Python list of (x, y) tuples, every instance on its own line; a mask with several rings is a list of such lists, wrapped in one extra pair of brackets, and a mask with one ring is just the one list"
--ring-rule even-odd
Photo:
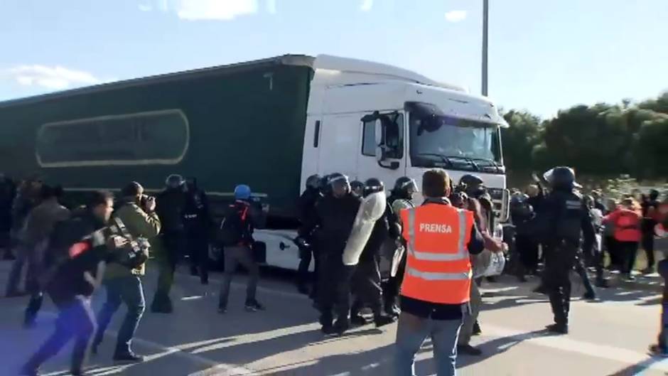
[(176, 6), (178, 18), (188, 21), (227, 21), (256, 12), (257, 0), (181, 0)]

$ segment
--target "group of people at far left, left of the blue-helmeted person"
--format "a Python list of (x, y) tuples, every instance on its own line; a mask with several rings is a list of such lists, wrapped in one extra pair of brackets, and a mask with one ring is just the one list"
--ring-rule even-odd
[[(97, 353), (122, 304), (127, 313), (113, 358), (144, 360), (131, 349), (131, 342), (146, 306), (142, 276), (149, 252), (159, 268), (151, 311), (173, 311), (169, 291), (176, 264), (186, 254), (191, 272), (208, 284), (212, 222), (206, 195), (194, 179), (169, 176), (166, 188), (156, 197), (146, 195), (140, 183), (130, 182), (117, 198), (93, 192), (86, 205), (76, 208), (62, 205), (62, 188), (38, 179), (23, 181), (14, 190), (13, 183), (3, 178), (0, 190), (2, 226), (9, 232), (4, 248), (14, 258), (6, 296), (30, 295), (23, 321), (26, 328), (35, 325), (45, 294), (59, 311), (55, 331), (26, 362), (23, 375), (38, 375), (40, 365), (72, 339), (72, 375), (83, 375), (87, 353)], [(25, 289), (21, 289), (26, 266)], [(98, 286), (104, 286), (107, 299), (96, 315), (90, 296)]]

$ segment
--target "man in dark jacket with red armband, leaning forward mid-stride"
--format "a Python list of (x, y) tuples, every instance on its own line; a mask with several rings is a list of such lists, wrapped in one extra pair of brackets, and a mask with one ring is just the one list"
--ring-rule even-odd
[(71, 374), (83, 375), (88, 343), (95, 331), (90, 296), (99, 286), (107, 259), (127, 244), (123, 237), (104, 235), (112, 210), (112, 194), (95, 192), (85, 209), (55, 226), (45, 257), (48, 272), (43, 276), (45, 291), (58, 308), (55, 331), (23, 365), (20, 375), (39, 375), (43, 362), (72, 339)]

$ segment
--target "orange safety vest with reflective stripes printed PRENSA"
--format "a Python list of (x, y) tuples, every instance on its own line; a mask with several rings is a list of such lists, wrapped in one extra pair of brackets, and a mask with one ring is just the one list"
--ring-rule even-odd
[(402, 296), (437, 304), (468, 302), (473, 213), (427, 203), (402, 210), (402, 221), (407, 249)]

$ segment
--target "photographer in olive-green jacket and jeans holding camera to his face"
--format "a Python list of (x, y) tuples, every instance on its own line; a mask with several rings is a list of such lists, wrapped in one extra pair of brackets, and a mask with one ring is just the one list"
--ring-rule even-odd
[[(121, 227), (119, 230), (126, 232), (124, 235), (129, 235), (134, 240), (141, 240), (141, 238), (149, 240), (156, 237), (160, 232), (160, 220), (154, 211), (156, 209), (155, 198), (144, 195), (144, 188), (134, 181), (123, 188), (121, 193), (123, 197), (120, 207), (114, 213), (114, 217), (120, 220), (117, 222), (117, 226)], [(125, 226), (125, 231), (122, 228), (123, 226)], [(109, 326), (112, 316), (121, 306), (121, 303), (124, 303), (128, 311), (119, 330), (116, 350), (114, 351), (114, 360), (117, 361), (141, 362), (144, 360), (144, 357), (136, 355), (130, 348), (132, 338), (146, 306), (144, 289), (141, 286), (141, 276), (145, 274), (149, 247), (143, 247), (137, 249), (137, 251), (141, 254), (136, 257), (126, 259), (121, 256), (114, 259), (113, 262), (109, 263), (107, 273), (104, 275), (107, 301), (97, 316), (99, 328), (95, 333), (92, 351), (97, 353), (97, 348), (102, 343), (104, 331)]]

